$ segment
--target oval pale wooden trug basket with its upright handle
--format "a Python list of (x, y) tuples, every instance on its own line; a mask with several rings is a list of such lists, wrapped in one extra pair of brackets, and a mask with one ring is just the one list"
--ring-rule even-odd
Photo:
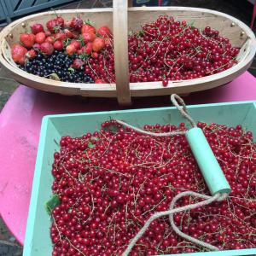
[[(114, 61), (116, 84), (74, 84), (45, 79), (26, 73), (17, 67), (10, 55), (10, 46), (19, 42), (21, 32), (29, 32), (33, 23), (45, 25), (56, 14), (65, 20), (81, 15), (83, 20), (93, 20), (96, 28), (108, 25), (113, 29)], [(159, 15), (172, 15), (175, 20), (194, 22), (194, 26), (204, 29), (211, 26), (221, 36), (230, 39), (230, 44), (241, 48), (238, 63), (224, 72), (200, 79), (169, 82), (163, 87), (161, 81), (147, 83), (129, 83), (128, 64), (128, 30), (139, 31), (141, 25), (152, 22)], [(13, 79), (22, 84), (63, 95), (80, 95), (90, 97), (117, 97), (119, 104), (131, 104), (131, 97), (162, 96), (172, 93), (188, 94), (193, 91), (207, 90), (230, 82), (245, 72), (253, 61), (256, 51), (256, 39), (252, 30), (240, 20), (209, 9), (187, 7), (140, 7), (127, 8), (126, 0), (113, 0), (113, 9), (67, 9), (29, 15), (6, 26), (0, 33), (0, 62)]]

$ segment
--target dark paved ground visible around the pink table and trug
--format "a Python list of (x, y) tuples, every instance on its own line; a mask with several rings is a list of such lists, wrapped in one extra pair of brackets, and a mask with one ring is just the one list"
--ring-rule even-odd
[[(61, 9), (90, 8), (91, 4), (94, 2), (94, 0), (77, 1), (76, 3), (61, 7)], [(106, 0), (103, 0), (103, 2), (106, 2)], [(247, 25), (250, 24), (253, 11), (253, 6), (249, 5), (249, 3), (244, 0), (171, 0), (171, 5), (215, 9), (233, 15)], [(96, 7), (102, 6), (100, 3), (97, 3)], [(254, 32), (256, 31), (255, 28), (256, 24), (254, 26)], [(253, 65), (249, 68), (249, 71), (256, 76), (256, 59), (253, 61)], [(3, 68), (0, 67), (0, 111), (17, 85), (18, 83), (13, 79), (6, 78), (6, 73), (3, 71)], [(3, 220), (0, 218), (0, 256), (19, 256), (21, 254), (22, 247), (20, 247), (15, 241), (15, 238), (9, 234), (9, 231), (3, 224)]]

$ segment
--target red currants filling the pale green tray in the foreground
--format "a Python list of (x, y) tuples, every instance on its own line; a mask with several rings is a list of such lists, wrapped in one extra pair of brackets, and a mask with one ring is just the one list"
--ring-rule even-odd
[[(256, 143), (241, 125), (198, 123), (232, 192), (214, 202), (174, 215), (175, 224), (219, 249), (256, 247)], [(184, 131), (185, 125), (145, 125), (154, 132)], [(182, 135), (145, 136), (114, 120), (82, 137), (61, 137), (52, 165), (52, 190), (60, 204), (52, 212), (52, 255), (121, 255), (154, 212), (166, 211), (184, 190), (209, 195), (189, 144)], [(198, 201), (177, 201), (182, 207)], [(183, 240), (167, 217), (154, 220), (131, 256), (193, 253), (204, 248)]]

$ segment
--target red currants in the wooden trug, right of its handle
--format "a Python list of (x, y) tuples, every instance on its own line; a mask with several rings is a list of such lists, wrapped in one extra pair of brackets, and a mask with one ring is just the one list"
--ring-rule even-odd
[(131, 82), (197, 79), (237, 63), (239, 49), (207, 26), (203, 32), (186, 21), (160, 16), (129, 38)]

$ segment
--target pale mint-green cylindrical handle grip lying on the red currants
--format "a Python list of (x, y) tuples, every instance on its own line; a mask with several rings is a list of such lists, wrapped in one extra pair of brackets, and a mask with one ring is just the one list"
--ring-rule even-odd
[(230, 184), (224, 177), (203, 131), (197, 127), (192, 128), (186, 132), (186, 137), (211, 194), (230, 193)]

